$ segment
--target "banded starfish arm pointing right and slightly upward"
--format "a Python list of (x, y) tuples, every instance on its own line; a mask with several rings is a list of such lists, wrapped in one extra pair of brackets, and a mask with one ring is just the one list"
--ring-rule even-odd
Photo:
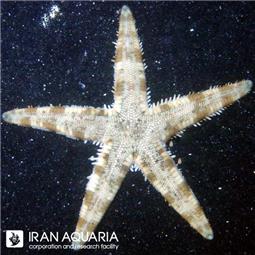
[(150, 114), (164, 127), (162, 139), (168, 140), (190, 125), (210, 119), (215, 114), (245, 96), (252, 87), (250, 80), (243, 80), (203, 92), (169, 100), (150, 109)]

